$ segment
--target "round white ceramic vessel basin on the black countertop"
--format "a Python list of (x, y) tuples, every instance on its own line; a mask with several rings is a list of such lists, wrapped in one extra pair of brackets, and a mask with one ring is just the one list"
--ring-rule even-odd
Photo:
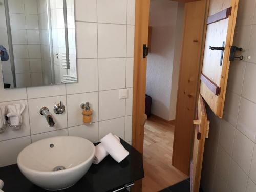
[(35, 185), (47, 190), (60, 190), (71, 187), (86, 174), (94, 154), (95, 147), (87, 139), (51, 137), (24, 148), (18, 155), (17, 164)]

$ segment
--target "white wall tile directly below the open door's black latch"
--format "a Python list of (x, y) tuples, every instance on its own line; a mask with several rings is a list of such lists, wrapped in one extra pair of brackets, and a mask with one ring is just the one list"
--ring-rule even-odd
[(246, 62), (233, 61), (229, 67), (227, 89), (238, 95), (242, 94)]

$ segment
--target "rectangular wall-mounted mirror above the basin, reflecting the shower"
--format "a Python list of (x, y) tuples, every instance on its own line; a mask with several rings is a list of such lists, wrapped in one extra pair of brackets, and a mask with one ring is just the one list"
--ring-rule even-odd
[(74, 0), (0, 0), (5, 88), (77, 82)]

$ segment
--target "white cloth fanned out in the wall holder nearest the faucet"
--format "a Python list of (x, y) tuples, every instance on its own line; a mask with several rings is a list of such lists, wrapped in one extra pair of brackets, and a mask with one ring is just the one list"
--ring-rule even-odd
[(6, 116), (9, 117), (10, 125), (20, 125), (20, 121), (22, 119), (22, 112), (24, 111), (25, 106), (25, 104), (8, 105), (9, 113)]

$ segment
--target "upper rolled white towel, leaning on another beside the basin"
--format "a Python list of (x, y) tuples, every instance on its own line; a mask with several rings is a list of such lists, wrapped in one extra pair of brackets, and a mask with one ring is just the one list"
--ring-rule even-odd
[(129, 155), (129, 152), (125, 150), (123, 145), (114, 138), (115, 136), (112, 133), (109, 133), (103, 137), (100, 142), (104, 146), (105, 150), (111, 155), (111, 157), (120, 163), (125, 157)]

